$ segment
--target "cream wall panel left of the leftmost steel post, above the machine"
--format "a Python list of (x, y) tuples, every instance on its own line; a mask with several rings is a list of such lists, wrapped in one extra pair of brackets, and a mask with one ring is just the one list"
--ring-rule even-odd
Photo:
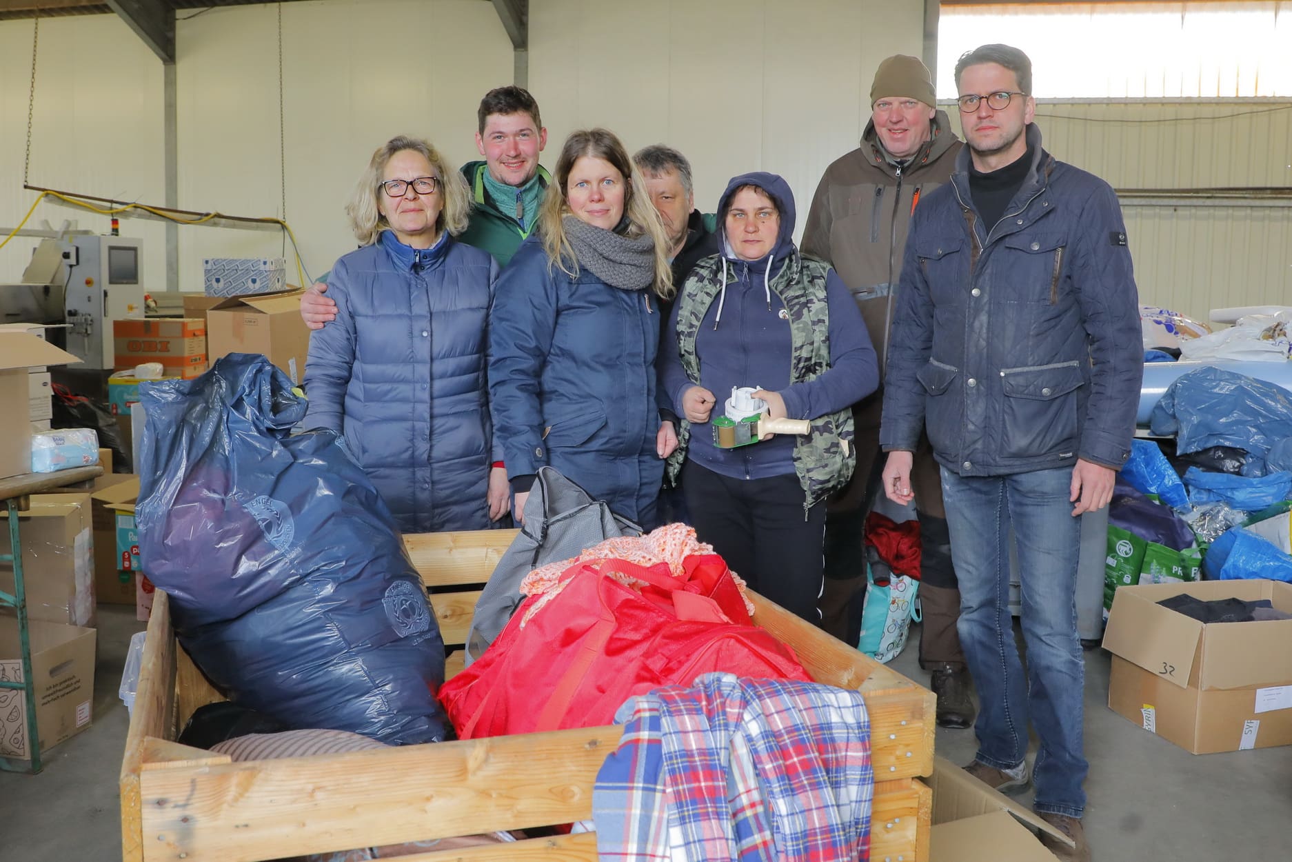
[[(36, 199), (22, 187), (31, 83), (31, 21), (0, 21), (0, 227), (14, 227)], [(116, 16), (40, 22), (31, 171), (35, 186), (121, 202), (162, 203), (162, 63)], [(41, 202), (27, 227), (63, 220), (106, 234), (109, 217)], [(123, 220), (145, 240), (149, 287), (165, 280), (165, 229)], [(8, 230), (0, 231), (0, 240)], [(17, 282), (39, 239), (16, 237), (0, 249), (0, 282)]]

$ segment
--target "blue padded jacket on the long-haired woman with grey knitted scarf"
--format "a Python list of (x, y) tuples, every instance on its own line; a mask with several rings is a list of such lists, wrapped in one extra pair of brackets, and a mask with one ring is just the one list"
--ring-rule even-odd
[(537, 235), (497, 282), (490, 314), (494, 425), (513, 479), (549, 464), (593, 499), (654, 518), (664, 461), (655, 452), (659, 304), (587, 268), (548, 268)]

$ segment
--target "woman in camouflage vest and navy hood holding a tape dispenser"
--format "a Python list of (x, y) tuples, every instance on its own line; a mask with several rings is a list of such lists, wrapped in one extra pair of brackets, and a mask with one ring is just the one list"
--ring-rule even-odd
[[(699, 538), (756, 591), (819, 622), (826, 496), (853, 472), (850, 406), (879, 368), (860, 311), (829, 266), (793, 243), (795, 199), (771, 173), (731, 180), (722, 251), (687, 277), (660, 358), (662, 398), (683, 416), (669, 477)], [(720, 448), (709, 424), (735, 386), (811, 433)]]

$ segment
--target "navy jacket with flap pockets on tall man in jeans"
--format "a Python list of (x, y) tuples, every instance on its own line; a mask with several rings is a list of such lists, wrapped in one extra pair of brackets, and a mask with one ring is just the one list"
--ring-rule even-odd
[(884, 381), (880, 443), (915, 450), (928, 424), (961, 476), (1119, 469), (1130, 454), (1143, 345), (1121, 208), (1109, 184), (1057, 162), (1027, 127), (1031, 171), (987, 233), (969, 150), (911, 220)]

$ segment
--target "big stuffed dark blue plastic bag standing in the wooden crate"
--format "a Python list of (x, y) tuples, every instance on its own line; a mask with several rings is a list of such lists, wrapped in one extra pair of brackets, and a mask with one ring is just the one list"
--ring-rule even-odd
[(141, 384), (140, 562), (176, 633), (230, 700), (292, 728), (393, 744), (448, 726), (444, 645), (376, 489), (287, 375), (230, 354)]

